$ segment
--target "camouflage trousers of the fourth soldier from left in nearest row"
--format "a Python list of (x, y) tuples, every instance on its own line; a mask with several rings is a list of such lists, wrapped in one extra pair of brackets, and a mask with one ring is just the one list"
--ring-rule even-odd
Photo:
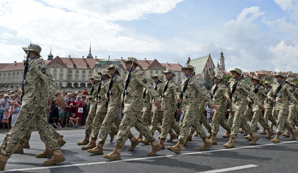
[(244, 116), (245, 111), (235, 111), (233, 126), (231, 130), (231, 136), (234, 138), (238, 137), (239, 128), (241, 127), (248, 133), (252, 133), (252, 129), (249, 127), (246, 117)]

